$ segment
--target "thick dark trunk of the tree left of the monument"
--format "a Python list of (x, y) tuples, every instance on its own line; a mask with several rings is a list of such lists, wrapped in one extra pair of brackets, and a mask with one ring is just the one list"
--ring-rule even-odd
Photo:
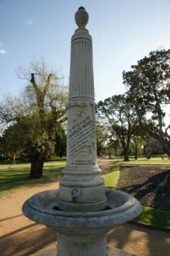
[(37, 179), (42, 177), (44, 159), (44, 153), (36, 153), (31, 157), (30, 179)]

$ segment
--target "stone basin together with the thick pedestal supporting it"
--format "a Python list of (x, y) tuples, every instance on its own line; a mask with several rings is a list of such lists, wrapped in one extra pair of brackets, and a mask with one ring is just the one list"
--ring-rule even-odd
[(115, 226), (140, 214), (142, 207), (130, 194), (106, 190), (109, 210), (68, 212), (57, 209), (59, 193), (48, 190), (28, 199), (23, 213), (56, 231), (58, 256), (105, 256), (106, 234)]

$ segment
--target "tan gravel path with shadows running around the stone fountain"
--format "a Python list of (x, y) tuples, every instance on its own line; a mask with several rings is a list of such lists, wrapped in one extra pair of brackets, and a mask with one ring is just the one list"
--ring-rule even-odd
[[(106, 175), (113, 160), (103, 159), (99, 166)], [(0, 255), (27, 256), (56, 245), (56, 235), (22, 215), (23, 202), (43, 190), (57, 189), (58, 182), (16, 190), (0, 197)], [(147, 229), (133, 223), (115, 227), (107, 237), (107, 245), (118, 247), (139, 256), (169, 256), (170, 238), (167, 231)]]

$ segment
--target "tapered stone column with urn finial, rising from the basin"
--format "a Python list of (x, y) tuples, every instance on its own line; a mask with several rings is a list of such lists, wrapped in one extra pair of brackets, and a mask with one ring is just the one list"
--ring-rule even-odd
[(60, 179), (59, 209), (98, 211), (106, 207), (105, 186), (97, 165), (92, 37), (88, 13), (75, 14), (78, 29), (71, 41), (67, 166)]

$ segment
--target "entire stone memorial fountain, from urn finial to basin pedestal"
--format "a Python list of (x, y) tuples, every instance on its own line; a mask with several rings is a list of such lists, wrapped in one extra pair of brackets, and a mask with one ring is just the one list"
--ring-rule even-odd
[[(75, 15), (68, 101), (67, 165), (59, 191), (29, 198), (23, 214), (56, 231), (57, 256), (108, 256), (106, 234), (142, 211), (138, 200), (105, 190), (97, 165), (92, 37), (85, 28), (88, 13)], [(114, 254), (117, 255), (117, 254)]]

